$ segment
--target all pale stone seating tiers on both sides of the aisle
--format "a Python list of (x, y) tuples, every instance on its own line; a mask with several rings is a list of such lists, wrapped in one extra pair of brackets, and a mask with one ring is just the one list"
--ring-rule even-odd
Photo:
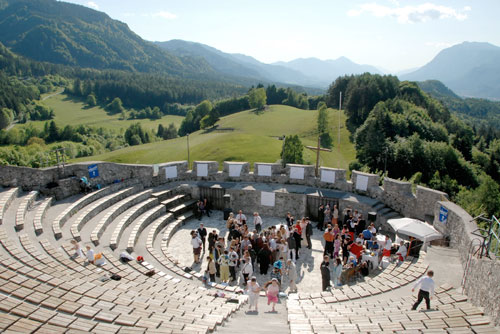
[[(1, 190), (0, 332), (217, 331), (247, 297), (235, 286), (203, 286), (202, 275), (186, 272), (168, 247), (195, 206), (174, 184), (143, 189), (122, 182), (59, 202), (36, 191)], [(106, 264), (77, 256), (73, 239), (92, 246)], [(134, 260), (122, 262), (125, 251)], [(145, 261), (136, 261), (138, 255)], [(437, 290), (429, 312), (411, 311), (413, 296), (376, 301), (422, 276), (424, 259), (421, 252), (342, 289), (290, 294), (283, 300), (290, 332), (496, 333), (482, 310), (451, 286)]]

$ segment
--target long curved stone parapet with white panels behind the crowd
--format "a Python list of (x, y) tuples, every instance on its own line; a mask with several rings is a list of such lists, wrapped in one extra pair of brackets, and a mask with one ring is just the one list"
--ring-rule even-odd
[(80, 191), (78, 180), (89, 178), (89, 166), (97, 166), (98, 176), (90, 179), (93, 184), (106, 185), (120, 180), (136, 180), (144, 187), (158, 186), (172, 181), (258, 182), (306, 185), (322, 189), (351, 192), (380, 200), (401, 214), (432, 222), (434, 203), (446, 200), (447, 195), (433, 189), (412, 185), (376, 174), (353, 171), (347, 180), (347, 171), (336, 168), (320, 168), (314, 175), (314, 166), (287, 164), (283, 168), (276, 163), (254, 164), (250, 171), (248, 162), (224, 162), (222, 170), (216, 161), (194, 161), (188, 170), (187, 161), (174, 161), (157, 165), (116, 164), (86, 162), (66, 165), (64, 169), (51, 167), (34, 169), (16, 166), (0, 166), (0, 186), (38, 190), (56, 199), (68, 197)]

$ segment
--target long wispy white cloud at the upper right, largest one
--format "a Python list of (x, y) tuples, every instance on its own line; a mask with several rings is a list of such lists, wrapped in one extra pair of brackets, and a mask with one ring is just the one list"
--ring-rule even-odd
[(358, 6), (357, 9), (349, 10), (347, 15), (359, 16), (363, 13), (368, 13), (375, 17), (393, 17), (396, 18), (399, 23), (419, 23), (441, 19), (456, 19), (463, 21), (467, 18), (467, 12), (470, 10), (470, 6), (466, 6), (460, 10), (429, 2), (417, 6), (403, 7), (389, 7), (377, 3), (365, 3)]

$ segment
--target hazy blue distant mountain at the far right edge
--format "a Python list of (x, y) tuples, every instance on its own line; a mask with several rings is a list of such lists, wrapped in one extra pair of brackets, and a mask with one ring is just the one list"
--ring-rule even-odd
[(500, 99), (500, 47), (490, 43), (464, 42), (438, 53), (402, 80), (439, 80), (465, 97)]

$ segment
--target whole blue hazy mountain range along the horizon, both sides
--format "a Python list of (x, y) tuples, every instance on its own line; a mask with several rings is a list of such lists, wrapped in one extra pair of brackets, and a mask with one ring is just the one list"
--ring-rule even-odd
[[(319, 88), (337, 77), (382, 73), (340, 57), (265, 64), (243, 54), (183, 41), (149, 42), (107, 14), (56, 0), (0, 0), (0, 42), (38, 61), (96, 69), (210, 78), (243, 86), (276, 83)], [(460, 96), (500, 99), (500, 47), (464, 42), (442, 50), (402, 80), (439, 80)]]

